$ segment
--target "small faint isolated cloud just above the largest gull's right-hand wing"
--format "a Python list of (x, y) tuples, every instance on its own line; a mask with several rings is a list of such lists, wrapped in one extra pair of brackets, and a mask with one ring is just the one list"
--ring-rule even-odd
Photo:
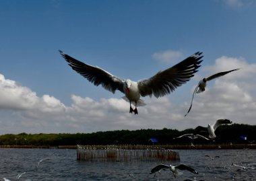
[(162, 52), (155, 52), (152, 57), (160, 62), (169, 63), (177, 61), (177, 59), (183, 57), (183, 54), (179, 51), (165, 50)]

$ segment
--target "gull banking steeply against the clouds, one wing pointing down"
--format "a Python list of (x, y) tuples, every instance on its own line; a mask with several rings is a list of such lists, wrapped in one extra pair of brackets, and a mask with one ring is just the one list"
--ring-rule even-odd
[[(192, 103), (193, 103), (193, 98), (195, 96), (195, 94), (198, 94), (198, 93), (201, 93), (201, 92), (204, 92), (205, 91), (205, 87), (206, 87), (206, 83), (207, 81), (211, 81), (212, 79), (216, 79), (218, 77), (221, 77), (223, 75), (226, 75), (227, 73), (230, 73), (232, 71), (237, 71), (238, 69), (233, 69), (231, 71), (222, 71), (222, 72), (219, 72), (219, 73), (216, 73), (214, 75), (210, 75), (209, 77), (206, 77), (206, 78), (203, 78), (199, 81), (197, 87), (195, 87), (195, 90), (193, 92), (193, 96), (192, 96), (192, 99), (191, 99), (191, 104), (190, 104), (190, 107), (189, 107), (189, 110), (187, 111), (187, 114), (189, 114), (189, 111), (191, 110), (192, 108)], [(185, 114), (185, 116), (187, 116), (187, 114)]]

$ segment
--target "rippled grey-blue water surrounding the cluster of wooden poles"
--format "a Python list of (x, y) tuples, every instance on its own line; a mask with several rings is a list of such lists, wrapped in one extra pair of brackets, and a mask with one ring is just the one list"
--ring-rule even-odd
[[(255, 170), (241, 170), (231, 164), (256, 168), (256, 150), (179, 150), (181, 161), (198, 175), (182, 171), (174, 178), (169, 170), (149, 174), (160, 162), (85, 162), (76, 160), (75, 149), (0, 149), (0, 180), (256, 180)], [(215, 156), (214, 160), (205, 155)], [(37, 163), (42, 161), (38, 170)]]

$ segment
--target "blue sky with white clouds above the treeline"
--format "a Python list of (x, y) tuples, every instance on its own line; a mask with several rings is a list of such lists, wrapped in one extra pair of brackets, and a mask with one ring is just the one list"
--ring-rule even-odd
[[(0, 135), (255, 124), (255, 1), (0, 1)], [(121, 78), (148, 78), (197, 51), (199, 72), (139, 115), (71, 70), (58, 50)], [(204, 76), (241, 68), (211, 81)]]

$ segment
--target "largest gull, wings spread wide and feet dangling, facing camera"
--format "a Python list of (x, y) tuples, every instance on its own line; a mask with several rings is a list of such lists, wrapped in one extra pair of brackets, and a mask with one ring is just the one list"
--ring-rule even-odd
[[(94, 85), (102, 85), (104, 89), (115, 94), (116, 90), (123, 92), (126, 101), (130, 102), (130, 113), (137, 114), (137, 106), (145, 106), (146, 104), (140, 97), (154, 95), (156, 98), (170, 94), (177, 87), (183, 85), (194, 76), (200, 67), (200, 56), (202, 52), (187, 57), (177, 65), (170, 67), (164, 71), (159, 71), (156, 75), (139, 81), (131, 81), (130, 79), (121, 79), (111, 73), (108, 73), (100, 67), (95, 67), (82, 63), (73, 59), (63, 51), (59, 50), (63, 58), (69, 63), (69, 66), (77, 71), (80, 75), (88, 79)], [(135, 109), (131, 108), (131, 104), (135, 105)]]

